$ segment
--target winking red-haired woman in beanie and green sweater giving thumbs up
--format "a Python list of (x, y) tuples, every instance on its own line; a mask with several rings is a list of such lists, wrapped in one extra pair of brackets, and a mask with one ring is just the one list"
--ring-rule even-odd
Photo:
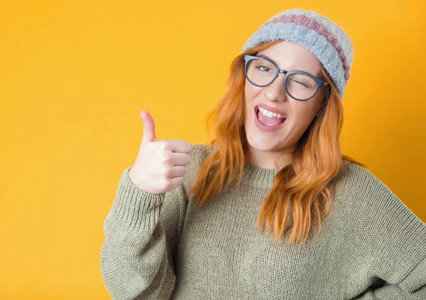
[(141, 112), (104, 222), (113, 299), (426, 299), (425, 223), (339, 149), (352, 53), (283, 11), (231, 64), (209, 144), (157, 141)]

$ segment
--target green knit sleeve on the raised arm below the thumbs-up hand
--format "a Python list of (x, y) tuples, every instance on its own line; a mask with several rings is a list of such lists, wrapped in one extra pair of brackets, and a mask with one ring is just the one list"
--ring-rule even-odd
[[(169, 299), (175, 286), (173, 253), (182, 224), (182, 186), (152, 194), (138, 188), (126, 168), (104, 220), (100, 261), (112, 299)], [(167, 203), (165, 213), (164, 203)]]

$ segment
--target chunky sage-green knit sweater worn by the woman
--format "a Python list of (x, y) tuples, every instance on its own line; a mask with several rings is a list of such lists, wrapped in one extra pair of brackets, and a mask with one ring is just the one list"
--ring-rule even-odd
[(246, 163), (236, 193), (200, 207), (188, 191), (204, 144), (191, 156), (167, 193), (122, 174), (100, 252), (112, 299), (426, 299), (426, 224), (370, 171), (347, 164), (322, 229), (285, 245), (256, 229), (278, 168)]

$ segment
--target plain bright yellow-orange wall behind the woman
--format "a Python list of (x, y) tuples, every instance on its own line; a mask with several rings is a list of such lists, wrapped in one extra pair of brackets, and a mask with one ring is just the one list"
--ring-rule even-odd
[(110, 299), (103, 222), (142, 139), (205, 141), (231, 60), (283, 9), (354, 43), (344, 154), (426, 220), (425, 1), (2, 1), (0, 299)]

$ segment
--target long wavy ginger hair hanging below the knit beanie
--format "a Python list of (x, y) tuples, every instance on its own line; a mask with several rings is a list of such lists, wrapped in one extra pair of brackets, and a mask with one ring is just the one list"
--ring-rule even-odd
[[(239, 188), (246, 162), (246, 132), (244, 55), (256, 55), (280, 41), (262, 43), (240, 53), (231, 63), (226, 92), (207, 114), (208, 155), (200, 163), (195, 183), (190, 190), (197, 205), (204, 203), (238, 178)], [(332, 179), (344, 171), (350, 162), (364, 164), (341, 154), (339, 135), (343, 126), (343, 106), (327, 72), (325, 80), (331, 85), (328, 100), (323, 101), (319, 114), (297, 142), (293, 161), (280, 169), (273, 186), (263, 200), (258, 214), (258, 230), (266, 230), (276, 241), (286, 232), (292, 243), (306, 242), (310, 230), (321, 228), (334, 197)], [(214, 138), (211, 138), (211, 132)]]

